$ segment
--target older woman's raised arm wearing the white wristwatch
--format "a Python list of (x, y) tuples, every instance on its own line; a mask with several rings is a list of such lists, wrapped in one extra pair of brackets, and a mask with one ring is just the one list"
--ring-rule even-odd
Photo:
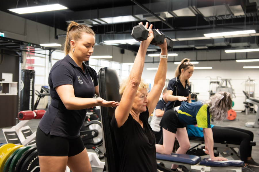
[[(159, 47), (161, 48), (161, 55), (166, 55), (167, 54), (166, 41)], [(159, 100), (159, 97), (165, 86), (166, 71), (167, 71), (167, 58), (160, 58), (157, 73), (155, 75), (154, 85), (147, 96), (148, 103), (146, 104), (146, 106), (148, 107), (149, 116), (154, 111), (157, 105), (157, 101)]]

